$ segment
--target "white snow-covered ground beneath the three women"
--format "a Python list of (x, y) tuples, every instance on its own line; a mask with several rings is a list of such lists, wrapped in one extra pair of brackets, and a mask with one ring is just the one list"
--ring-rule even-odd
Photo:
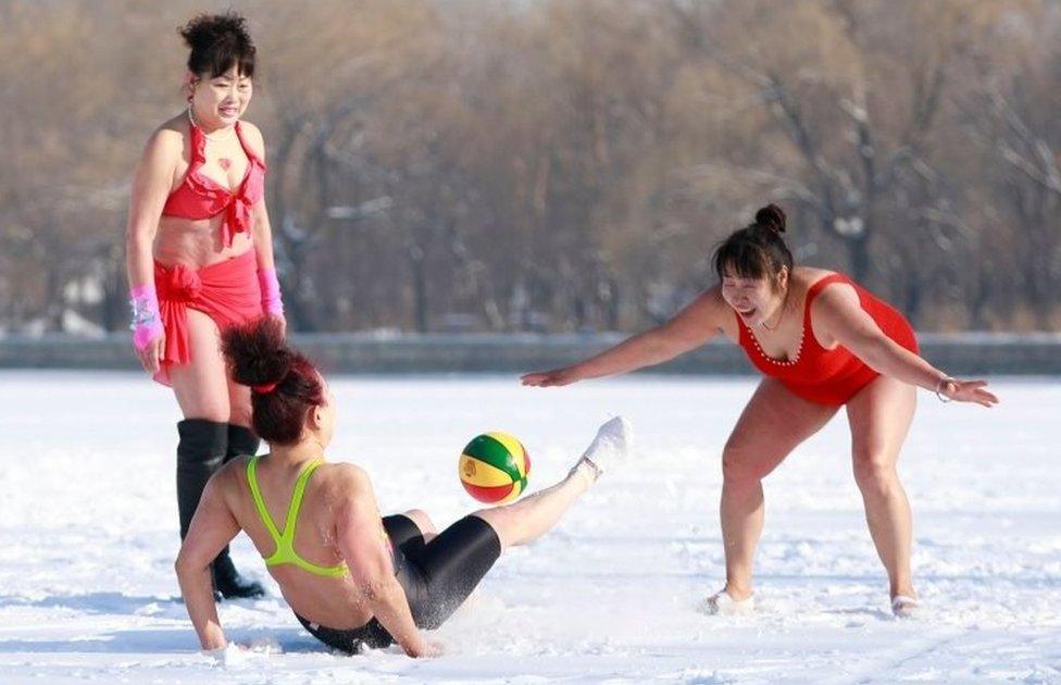
[[(637, 463), (502, 558), (436, 633), (441, 658), (332, 655), (271, 585), (264, 601), (222, 606), (251, 647), (223, 669), (174, 598), (172, 397), (136, 375), (2, 372), (0, 683), (1061, 682), (1059, 384), (994, 387), (993, 410), (921, 397), (901, 461), (919, 619), (887, 610), (842, 416), (766, 481), (761, 611), (722, 619), (696, 605), (723, 577), (720, 452), (751, 379), (334, 378), (329, 457), (365, 466), (386, 511), (446, 524), (472, 510), (457, 459), (486, 429), (527, 445), (532, 488), (609, 413), (634, 423)], [(234, 555), (267, 577), (245, 538)]]

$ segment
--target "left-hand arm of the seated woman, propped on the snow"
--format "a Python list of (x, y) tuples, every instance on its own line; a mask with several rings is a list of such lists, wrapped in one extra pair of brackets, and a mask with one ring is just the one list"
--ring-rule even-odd
[(217, 618), (210, 564), (239, 533), (239, 525), (222, 494), (223, 477), (224, 474), (219, 473), (207, 483), (175, 564), (184, 605), (199, 634), (199, 643), (207, 651), (227, 645)]

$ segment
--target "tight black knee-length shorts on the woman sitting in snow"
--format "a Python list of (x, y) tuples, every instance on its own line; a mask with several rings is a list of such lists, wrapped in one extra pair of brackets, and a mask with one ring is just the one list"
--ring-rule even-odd
[[(394, 548), (395, 574), (405, 590), (413, 621), (422, 628), (440, 626), (501, 556), (497, 532), (478, 516), (464, 516), (429, 543), (409, 516), (386, 516), (383, 526)], [(395, 642), (376, 619), (338, 631), (295, 615), (319, 640), (349, 653)]]

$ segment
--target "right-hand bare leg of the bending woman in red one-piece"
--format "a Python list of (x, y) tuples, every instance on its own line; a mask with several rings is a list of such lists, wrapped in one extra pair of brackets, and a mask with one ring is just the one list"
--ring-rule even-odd
[(847, 404), (854, 481), (891, 596), (914, 597), (910, 572), (913, 524), (896, 464), (918, 404), (916, 389), (881, 376)]

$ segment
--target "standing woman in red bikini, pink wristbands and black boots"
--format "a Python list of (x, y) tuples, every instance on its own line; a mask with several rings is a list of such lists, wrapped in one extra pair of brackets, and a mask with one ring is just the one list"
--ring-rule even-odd
[[(133, 342), (173, 388), (180, 537), (217, 469), (253, 454), (250, 390), (228, 379), (220, 334), (263, 315), (284, 320), (264, 195), (264, 141), (240, 117), (253, 92), (254, 45), (241, 16), (200, 15), (182, 30), (191, 53), (187, 109), (148, 140), (136, 169), (126, 263)], [(255, 597), (227, 548), (213, 563), (223, 597)]]

